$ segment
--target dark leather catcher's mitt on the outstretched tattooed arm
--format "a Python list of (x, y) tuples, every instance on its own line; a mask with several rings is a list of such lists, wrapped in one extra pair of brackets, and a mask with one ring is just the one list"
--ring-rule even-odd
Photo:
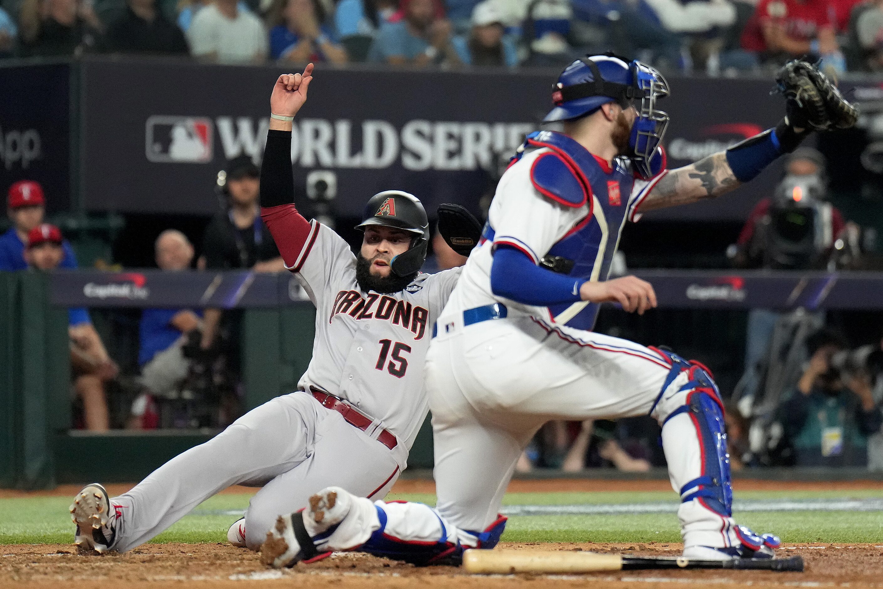
[(849, 129), (856, 124), (858, 111), (843, 98), (840, 90), (813, 64), (795, 59), (782, 66), (775, 77), (778, 91), (785, 96), (792, 126), (813, 131)]

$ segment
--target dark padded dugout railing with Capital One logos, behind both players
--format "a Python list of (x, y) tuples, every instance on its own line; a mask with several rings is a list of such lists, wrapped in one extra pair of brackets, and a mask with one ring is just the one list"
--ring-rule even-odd
[[(653, 284), (660, 308), (879, 309), (883, 273), (750, 270), (637, 270)], [(52, 303), (59, 306), (276, 307), (310, 305), (289, 273), (58, 271)]]

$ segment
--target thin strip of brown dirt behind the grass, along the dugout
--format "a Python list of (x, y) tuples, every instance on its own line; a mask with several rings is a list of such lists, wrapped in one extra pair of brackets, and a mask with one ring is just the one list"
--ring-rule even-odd
[[(89, 481), (86, 481), (89, 482)], [(85, 483), (84, 483), (85, 484)], [(879, 480), (754, 480), (739, 479), (733, 483), (736, 491), (850, 491), (879, 487)], [(13, 497), (72, 497), (82, 485), (59, 485), (50, 491), (18, 491), (0, 489), (0, 499)], [(122, 495), (133, 483), (105, 485), (110, 495)], [(601, 480), (601, 479), (516, 479), (509, 483), (509, 493), (577, 493), (597, 491), (671, 491), (668, 480)], [(222, 493), (256, 493), (253, 487), (229, 487)], [(434, 493), (433, 480), (398, 480), (392, 493)], [(675, 495), (672, 495), (674, 497)]]

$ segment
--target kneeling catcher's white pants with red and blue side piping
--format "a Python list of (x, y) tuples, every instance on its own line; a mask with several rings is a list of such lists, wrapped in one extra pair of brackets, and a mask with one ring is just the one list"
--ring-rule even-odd
[[(666, 359), (644, 346), (531, 318), (439, 323), (426, 357), (437, 510), (464, 530), (494, 522), (516, 461), (543, 423), (645, 415), (670, 371)], [(686, 403), (690, 391), (679, 389), (688, 380), (678, 376), (651, 413), (665, 423), (662, 442), (676, 492), (704, 474), (690, 413), (665, 421)], [(700, 499), (683, 502), (678, 516), (686, 546), (737, 541), (732, 519)]]

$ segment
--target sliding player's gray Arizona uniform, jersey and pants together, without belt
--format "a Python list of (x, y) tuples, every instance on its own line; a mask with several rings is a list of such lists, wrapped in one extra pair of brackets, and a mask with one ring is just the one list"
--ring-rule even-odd
[[(129, 493), (111, 499), (117, 514), (113, 549), (150, 540), (208, 497), (230, 485), (263, 487), (245, 513), (245, 543), (256, 549), (277, 516), (306, 505), (336, 485), (380, 499), (406, 465), (426, 418), (423, 384), (432, 326), (460, 268), (421, 274), (390, 295), (362, 291), (356, 257), (333, 230), (291, 210), (268, 226), (316, 306), (313, 359), (299, 388), (312, 385), (342, 397), (374, 419), (363, 432), (313, 396), (294, 392), (260, 405), (204, 444), (156, 469)], [(294, 244), (292, 247), (291, 245)], [(381, 427), (394, 449), (377, 440)]]

